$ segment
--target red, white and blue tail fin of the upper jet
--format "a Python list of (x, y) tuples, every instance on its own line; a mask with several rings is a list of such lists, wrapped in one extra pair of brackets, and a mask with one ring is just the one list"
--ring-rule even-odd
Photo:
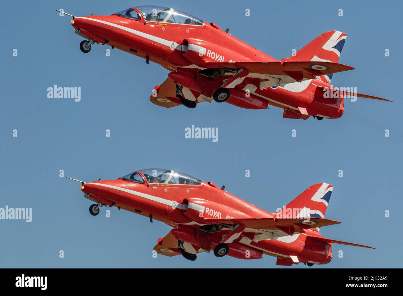
[[(285, 59), (288, 61), (317, 61), (337, 63), (340, 58), (347, 35), (339, 31), (328, 31), (316, 37), (310, 43), (297, 51), (295, 56)], [(317, 78), (330, 83), (333, 74), (321, 75)]]

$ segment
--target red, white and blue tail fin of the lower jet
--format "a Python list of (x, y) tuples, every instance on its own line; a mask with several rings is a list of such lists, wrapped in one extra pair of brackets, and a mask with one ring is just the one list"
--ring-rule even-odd
[(279, 217), (317, 217), (323, 218), (332, 194), (333, 186), (318, 183), (310, 186), (293, 201), (278, 211)]

